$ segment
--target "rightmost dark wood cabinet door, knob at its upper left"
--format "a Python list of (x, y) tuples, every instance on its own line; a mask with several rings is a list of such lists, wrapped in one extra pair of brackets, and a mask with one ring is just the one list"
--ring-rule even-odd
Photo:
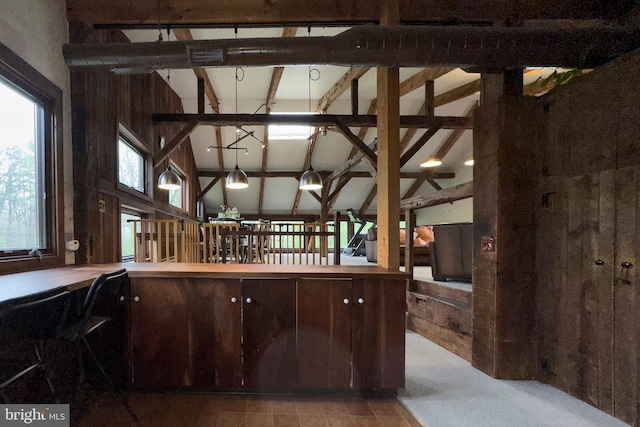
[(353, 387), (404, 387), (406, 281), (353, 279)]

